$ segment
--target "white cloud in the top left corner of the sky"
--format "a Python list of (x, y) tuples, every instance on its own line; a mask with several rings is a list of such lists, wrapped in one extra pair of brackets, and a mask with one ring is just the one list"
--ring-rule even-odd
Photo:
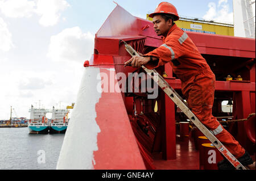
[(10, 18), (30, 17), (34, 12), (35, 2), (27, 0), (3, 0), (0, 1), (0, 10)]

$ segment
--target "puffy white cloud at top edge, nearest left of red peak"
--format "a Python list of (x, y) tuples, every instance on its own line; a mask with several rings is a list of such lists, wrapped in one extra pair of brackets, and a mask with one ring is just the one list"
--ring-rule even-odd
[(69, 7), (69, 4), (64, 0), (39, 0), (36, 6), (36, 13), (41, 16), (39, 23), (47, 27), (58, 22), (60, 12)]

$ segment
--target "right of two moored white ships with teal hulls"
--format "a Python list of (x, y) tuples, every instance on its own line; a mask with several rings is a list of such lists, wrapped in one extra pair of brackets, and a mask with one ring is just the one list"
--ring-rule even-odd
[(51, 123), (49, 124), (49, 133), (65, 133), (68, 127), (68, 113), (67, 109), (55, 110), (55, 107), (52, 107), (51, 110), (52, 118)]

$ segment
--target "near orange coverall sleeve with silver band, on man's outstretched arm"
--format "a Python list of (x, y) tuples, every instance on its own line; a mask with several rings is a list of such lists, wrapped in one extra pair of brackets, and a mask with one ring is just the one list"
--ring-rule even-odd
[(154, 56), (156, 58), (159, 58), (158, 64), (149, 63), (144, 66), (147, 69), (155, 69), (183, 55), (184, 48), (179, 43), (178, 39), (166, 39), (163, 45), (147, 54), (144, 54), (144, 56)]

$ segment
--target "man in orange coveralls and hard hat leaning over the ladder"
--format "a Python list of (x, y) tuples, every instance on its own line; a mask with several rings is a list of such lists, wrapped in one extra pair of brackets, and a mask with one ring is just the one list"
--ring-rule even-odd
[[(212, 116), (215, 75), (187, 33), (174, 23), (179, 19), (176, 8), (171, 3), (162, 2), (149, 16), (153, 18), (156, 34), (163, 36), (163, 45), (142, 57), (134, 56), (125, 64), (131, 63), (131, 66), (139, 68), (144, 65), (148, 69), (155, 69), (170, 63), (181, 80), (181, 90), (192, 112), (242, 165), (251, 165), (253, 159), (247, 151)], [(218, 169), (232, 170), (235, 167), (224, 159), (218, 163)]]

